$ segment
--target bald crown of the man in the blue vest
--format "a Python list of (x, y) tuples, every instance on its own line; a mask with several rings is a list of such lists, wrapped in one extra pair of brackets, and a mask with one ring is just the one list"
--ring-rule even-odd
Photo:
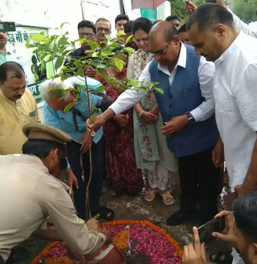
[(178, 36), (178, 30), (175, 26), (171, 25), (168, 21), (160, 21), (152, 26), (148, 35), (148, 41), (158, 38), (169, 43), (175, 35)]

